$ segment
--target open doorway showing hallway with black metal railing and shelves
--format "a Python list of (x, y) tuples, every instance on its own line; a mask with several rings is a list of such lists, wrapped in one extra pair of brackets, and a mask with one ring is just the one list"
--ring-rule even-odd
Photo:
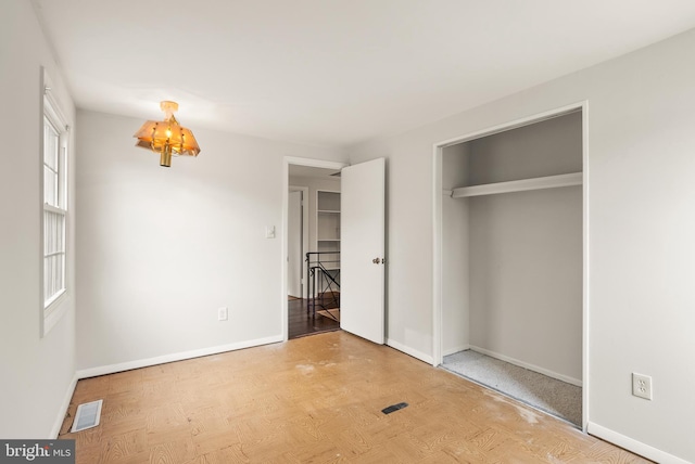
[[(329, 285), (328, 291), (324, 288), (327, 279), (323, 274), (317, 275), (319, 272), (315, 261), (320, 258), (330, 260), (331, 269), (327, 270), (330, 274), (327, 275), (339, 282), (340, 170), (345, 165), (303, 158), (286, 160), (287, 296), (283, 301), (283, 320), (287, 338), (291, 339), (340, 328), (339, 307), (324, 304), (324, 300), (338, 298), (339, 291), (334, 285)], [(325, 206), (326, 192), (330, 192), (331, 195), (328, 196), (338, 195), (337, 202), (333, 202), (336, 205), (330, 208)], [(327, 227), (330, 229), (330, 237), (326, 236)], [(338, 253), (324, 256), (329, 252), (326, 249), (328, 245), (330, 250)], [(307, 266), (307, 254), (312, 266)]]

